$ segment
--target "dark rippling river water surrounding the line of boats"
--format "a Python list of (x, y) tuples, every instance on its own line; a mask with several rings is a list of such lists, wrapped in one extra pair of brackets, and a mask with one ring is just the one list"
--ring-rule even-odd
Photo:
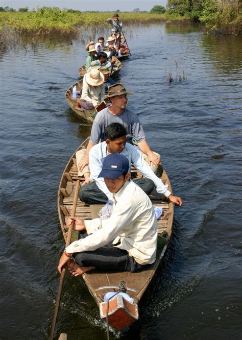
[[(139, 320), (110, 336), (241, 339), (241, 37), (165, 25), (126, 32), (132, 56), (117, 80), (135, 92), (129, 107), (184, 205), (175, 209), (172, 239)], [(63, 250), (58, 185), (90, 134), (64, 99), (85, 62), (86, 34), (1, 56), (1, 340), (45, 339), (50, 331)], [(69, 275), (61, 332), (106, 339), (87, 288)]]

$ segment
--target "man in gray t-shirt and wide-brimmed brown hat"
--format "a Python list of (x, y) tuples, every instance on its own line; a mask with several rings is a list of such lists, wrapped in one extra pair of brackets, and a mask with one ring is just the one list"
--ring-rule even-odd
[(109, 98), (111, 106), (100, 111), (94, 119), (86, 154), (78, 164), (81, 171), (89, 163), (88, 155), (91, 148), (100, 140), (105, 141), (104, 130), (111, 123), (124, 125), (127, 130), (127, 142), (132, 144), (133, 138), (135, 138), (141, 152), (147, 155), (148, 164), (152, 165), (151, 163), (153, 163), (155, 168), (158, 167), (160, 157), (151, 151), (137, 114), (126, 108), (128, 104), (127, 94), (133, 94), (133, 92), (126, 91), (121, 83), (109, 87), (107, 98)]

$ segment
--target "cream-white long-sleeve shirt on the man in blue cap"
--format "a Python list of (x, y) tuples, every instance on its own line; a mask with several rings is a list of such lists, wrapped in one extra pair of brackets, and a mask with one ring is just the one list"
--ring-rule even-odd
[(157, 248), (157, 220), (151, 200), (134, 182), (113, 196), (110, 218), (86, 220), (88, 236), (72, 242), (67, 253), (94, 251), (113, 240), (113, 245), (126, 250), (139, 264), (153, 263)]

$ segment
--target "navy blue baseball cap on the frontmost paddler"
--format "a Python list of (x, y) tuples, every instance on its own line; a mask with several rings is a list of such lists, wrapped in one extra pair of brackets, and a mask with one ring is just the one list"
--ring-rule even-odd
[(102, 171), (98, 177), (116, 179), (129, 172), (129, 160), (120, 154), (111, 154), (104, 158)]

